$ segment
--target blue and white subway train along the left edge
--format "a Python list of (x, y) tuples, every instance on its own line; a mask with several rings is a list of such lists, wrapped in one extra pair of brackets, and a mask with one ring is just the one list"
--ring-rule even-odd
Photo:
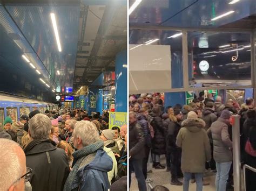
[(29, 115), (33, 110), (38, 109), (42, 114), (45, 110), (57, 109), (58, 104), (32, 100), (26, 97), (0, 94), (0, 129), (3, 128), (5, 117), (10, 116), (12, 121), (18, 121), (22, 114)]

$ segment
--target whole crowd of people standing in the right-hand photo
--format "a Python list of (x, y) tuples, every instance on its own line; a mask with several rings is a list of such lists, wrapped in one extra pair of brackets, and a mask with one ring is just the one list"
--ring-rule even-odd
[[(199, 97), (188, 105), (164, 107), (164, 95), (141, 94), (129, 98), (129, 177), (138, 180), (139, 190), (146, 190), (147, 176), (152, 168), (170, 171), (171, 185), (183, 186), (196, 182), (197, 191), (209, 185), (204, 175), (215, 174), (217, 191), (232, 189), (232, 115), (240, 115), (241, 164), (256, 168), (256, 115), (253, 98), (227, 100), (213, 94)], [(166, 167), (160, 163), (165, 155)], [(162, 162), (163, 163), (163, 162)], [(183, 181), (181, 181), (183, 178)], [(246, 172), (246, 191), (256, 190), (256, 176)]]

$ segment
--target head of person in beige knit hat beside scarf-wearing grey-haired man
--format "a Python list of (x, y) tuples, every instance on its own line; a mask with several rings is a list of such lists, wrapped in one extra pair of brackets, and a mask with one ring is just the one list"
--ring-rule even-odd
[(104, 146), (107, 148), (111, 148), (114, 154), (120, 155), (120, 151), (118, 148), (117, 142), (114, 141), (114, 130), (112, 129), (105, 129), (102, 131), (102, 135), (100, 138), (104, 141)]

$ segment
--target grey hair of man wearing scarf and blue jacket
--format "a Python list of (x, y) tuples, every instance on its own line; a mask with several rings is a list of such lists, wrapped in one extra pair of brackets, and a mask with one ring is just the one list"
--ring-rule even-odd
[(91, 145), (97, 140), (101, 140), (96, 125), (89, 121), (77, 122), (73, 133), (74, 138), (79, 137), (82, 139), (83, 146)]

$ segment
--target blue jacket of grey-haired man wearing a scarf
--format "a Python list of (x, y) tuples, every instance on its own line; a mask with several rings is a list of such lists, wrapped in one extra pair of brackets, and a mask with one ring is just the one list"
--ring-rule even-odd
[(110, 188), (107, 172), (111, 171), (112, 167), (112, 159), (103, 149), (99, 149), (95, 159), (78, 170), (72, 190), (107, 191)]

